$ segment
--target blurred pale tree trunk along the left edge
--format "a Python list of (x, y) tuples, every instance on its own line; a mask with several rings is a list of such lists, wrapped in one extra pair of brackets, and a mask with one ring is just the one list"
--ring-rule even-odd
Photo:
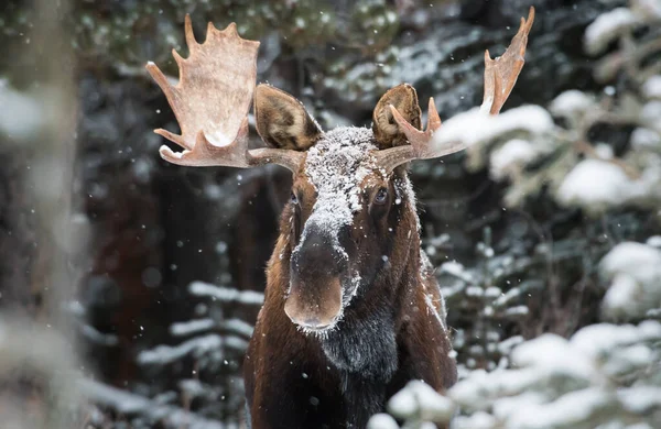
[(26, 85), (0, 87), (0, 413), (8, 427), (66, 428), (78, 405), (66, 307), (86, 242), (72, 193), (75, 58), (64, 25), (68, 2), (33, 6), (30, 31), (8, 48), (15, 59), (9, 72)]

